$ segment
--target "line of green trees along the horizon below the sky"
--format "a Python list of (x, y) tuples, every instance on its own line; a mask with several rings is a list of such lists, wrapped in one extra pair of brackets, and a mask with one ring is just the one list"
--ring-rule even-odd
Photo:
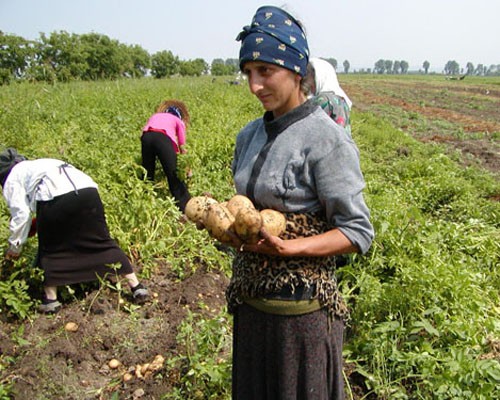
[[(337, 60), (327, 58), (335, 69)], [(349, 73), (350, 63), (342, 63), (343, 72)], [(378, 60), (373, 70), (361, 73), (406, 74), (408, 62)], [(424, 61), (423, 72), (428, 73), (430, 63)], [(70, 80), (98, 80), (139, 78), (151, 75), (165, 78), (173, 75), (214, 76), (232, 75), (239, 70), (238, 59), (216, 58), (211, 64), (202, 58), (181, 60), (171, 51), (149, 54), (139, 45), (125, 45), (98, 33), (72, 34), (65, 31), (40, 34), (37, 40), (5, 34), (0, 31), (0, 84), (11, 81), (67, 82)], [(474, 67), (467, 63), (465, 70), (456, 61), (444, 67), (447, 75), (500, 75), (500, 65)]]

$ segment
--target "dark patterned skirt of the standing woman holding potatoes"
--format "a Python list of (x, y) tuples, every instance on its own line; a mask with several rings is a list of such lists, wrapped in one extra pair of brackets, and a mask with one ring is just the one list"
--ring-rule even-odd
[(233, 399), (344, 399), (342, 320), (325, 309), (282, 316), (242, 304), (235, 311)]

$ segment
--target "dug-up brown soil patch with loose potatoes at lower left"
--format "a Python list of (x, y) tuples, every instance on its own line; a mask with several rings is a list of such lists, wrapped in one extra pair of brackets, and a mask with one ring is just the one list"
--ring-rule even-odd
[[(146, 282), (155, 297), (131, 312), (126, 308), (134, 305), (126, 293), (119, 304), (118, 292), (95, 288), (55, 315), (1, 320), (0, 351), (15, 359), (8, 371), (1, 371), (1, 382), (13, 383), (19, 400), (163, 398), (179, 384), (180, 371), (162, 368), (141, 379), (136, 366), (151, 363), (158, 354), (165, 359), (178, 355), (176, 336), (188, 310), (218, 314), (228, 282), (222, 272), (203, 265), (183, 280), (168, 271), (168, 265), (158, 266)], [(77, 323), (78, 330), (66, 331), (68, 322)], [(112, 359), (121, 366), (111, 369)], [(127, 371), (133, 379), (124, 382)], [(115, 392), (119, 397), (112, 397)]]

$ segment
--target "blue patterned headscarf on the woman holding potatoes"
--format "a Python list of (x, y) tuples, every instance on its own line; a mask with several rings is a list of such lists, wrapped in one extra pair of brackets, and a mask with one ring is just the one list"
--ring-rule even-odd
[(260, 7), (250, 26), (236, 40), (241, 41), (240, 69), (247, 61), (264, 61), (306, 74), (309, 46), (299, 22), (278, 7)]

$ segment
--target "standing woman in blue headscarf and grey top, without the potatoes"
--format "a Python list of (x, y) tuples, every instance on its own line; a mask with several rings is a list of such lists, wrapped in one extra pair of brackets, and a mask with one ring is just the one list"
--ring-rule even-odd
[(233, 398), (343, 399), (347, 309), (335, 268), (373, 239), (358, 149), (306, 101), (309, 50), (291, 15), (261, 7), (237, 39), (240, 68), (265, 113), (238, 134), (236, 190), (284, 213), (287, 229), (280, 237), (262, 230), (233, 261)]

